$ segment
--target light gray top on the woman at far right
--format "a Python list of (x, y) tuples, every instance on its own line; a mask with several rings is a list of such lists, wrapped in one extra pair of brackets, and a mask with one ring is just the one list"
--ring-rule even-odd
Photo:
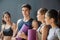
[(60, 29), (58, 27), (51, 28), (47, 40), (60, 40)]

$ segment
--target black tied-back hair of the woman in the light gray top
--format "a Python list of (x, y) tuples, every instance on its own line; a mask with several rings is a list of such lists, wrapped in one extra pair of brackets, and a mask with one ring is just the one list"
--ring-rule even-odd
[(58, 12), (55, 9), (48, 10), (47, 15), (48, 15), (49, 18), (54, 19), (55, 24), (58, 23)]

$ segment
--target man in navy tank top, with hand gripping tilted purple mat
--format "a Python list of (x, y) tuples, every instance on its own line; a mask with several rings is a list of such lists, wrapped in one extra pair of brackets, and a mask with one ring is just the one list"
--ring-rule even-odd
[[(24, 32), (20, 33), (20, 29), (22, 28), (23, 24), (26, 24), (29, 26), (29, 29), (32, 29), (32, 21), (34, 21), (34, 19), (31, 18), (30, 16), (30, 11), (31, 11), (31, 5), (29, 4), (23, 4), (22, 5), (22, 15), (23, 15), (23, 19), (19, 19), (17, 21), (17, 26), (18, 26), (18, 34), (17, 36), (23, 39), (27, 39), (27, 35), (25, 35)], [(36, 23), (37, 21), (35, 21)]]

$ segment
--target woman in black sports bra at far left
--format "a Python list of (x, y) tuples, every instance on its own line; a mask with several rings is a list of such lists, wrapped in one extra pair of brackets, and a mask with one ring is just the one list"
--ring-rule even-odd
[(11, 21), (11, 15), (8, 11), (4, 12), (2, 17), (1, 36), (2, 40), (11, 40), (15, 36), (17, 25)]

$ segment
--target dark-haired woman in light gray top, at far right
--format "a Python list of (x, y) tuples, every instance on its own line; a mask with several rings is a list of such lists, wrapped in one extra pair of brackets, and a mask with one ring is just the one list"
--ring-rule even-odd
[(58, 12), (55, 9), (48, 10), (45, 14), (47, 25), (51, 25), (47, 40), (60, 40), (60, 28), (58, 22)]

